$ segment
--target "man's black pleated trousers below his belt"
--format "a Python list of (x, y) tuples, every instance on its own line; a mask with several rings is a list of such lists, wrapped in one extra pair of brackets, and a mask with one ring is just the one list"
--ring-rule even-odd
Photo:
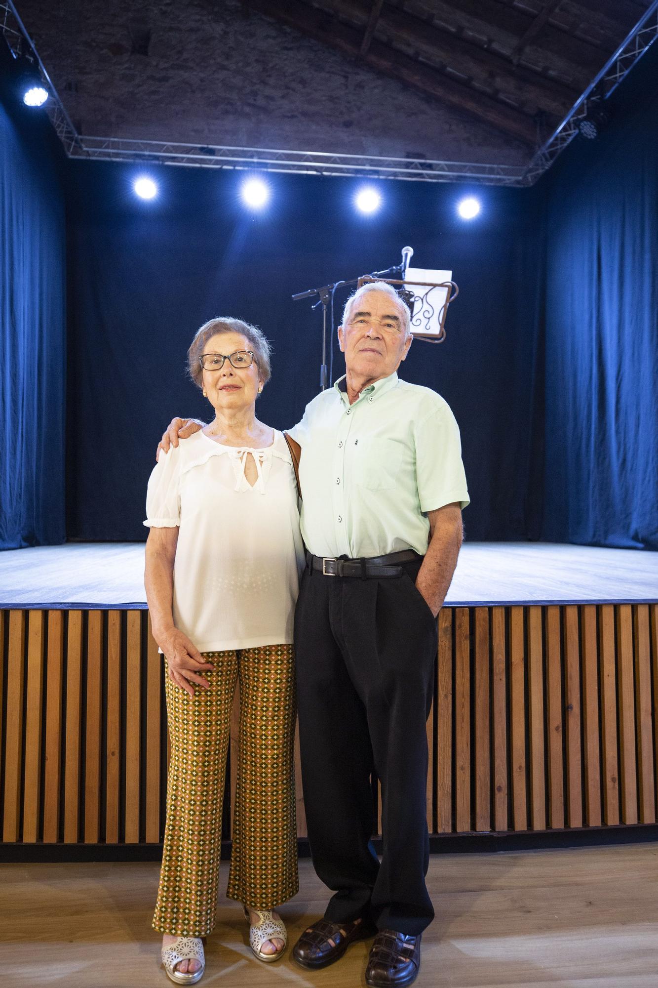
[[(335, 890), (325, 917), (365, 916), (415, 935), (434, 919), (425, 885), (426, 722), (437, 622), (419, 562), (383, 579), (304, 571), (294, 620), (299, 741), (313, 864)], [(382, 858), (370, 773), (381, 783)]]

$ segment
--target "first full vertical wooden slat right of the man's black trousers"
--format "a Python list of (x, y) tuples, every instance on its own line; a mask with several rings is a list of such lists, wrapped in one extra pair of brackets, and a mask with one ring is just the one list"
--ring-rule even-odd
[(439, 612), (437, 831), (452, 832), (452, 608)]

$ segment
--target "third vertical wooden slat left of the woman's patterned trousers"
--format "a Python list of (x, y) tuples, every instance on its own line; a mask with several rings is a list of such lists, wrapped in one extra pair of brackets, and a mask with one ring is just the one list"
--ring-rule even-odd
[(122, 615), (108, 612), (108, 697), (106, 733), (105, 840), (119, 841), (119, 798), (122, 743)]

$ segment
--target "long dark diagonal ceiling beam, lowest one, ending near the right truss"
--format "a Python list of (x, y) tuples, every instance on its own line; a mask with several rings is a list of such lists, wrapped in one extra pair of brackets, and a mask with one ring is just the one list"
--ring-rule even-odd
[(477, 118), (481, 124), (488, 124), (524, 144), (535, 146), (535, 124), (532, 118), (469, 86), (454, 82), (429, 65), (409, 58), (378, 41), (373, 40), (367, 54), (361, 55), (362, 32), (359, 29), (342, 24), (330, 14), (309, 7), (301, 0), (287, 0), (285, 4), (280, 4), (277, 0), (249, 0), (249, 9), (259, 11), (308, 38), (357, 58), (361, 64), (391, 76), (440, 103), (463, 111)]

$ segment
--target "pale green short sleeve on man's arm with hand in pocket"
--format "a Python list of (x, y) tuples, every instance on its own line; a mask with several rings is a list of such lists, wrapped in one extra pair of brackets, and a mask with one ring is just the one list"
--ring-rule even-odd
[(465, 508), (469, 497), (459, 427), (446, 402), (414, 424), (414, 442), (421, 511), (438, 511), (453, 503)]

